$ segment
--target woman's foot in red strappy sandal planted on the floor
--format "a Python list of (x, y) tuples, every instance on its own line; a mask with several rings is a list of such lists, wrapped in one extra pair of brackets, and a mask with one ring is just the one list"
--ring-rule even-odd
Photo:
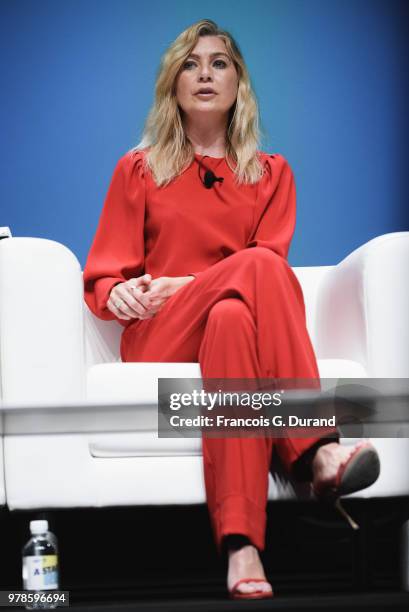
[[(228, 546), (228, 544), (227, 544)], [(272, 591), (271, 584), (266, 579), (263, 565), (258, 550), (251, 543), (240, 548), (227, 548), (229, 569), (227, 573), (227, 588), (229, 592), (239, 580), (246, 578), (262, 579), (263, 582), (242, 582), (237, 586), (238, 593), (255, 593), (256, 591), (269, 593)]]

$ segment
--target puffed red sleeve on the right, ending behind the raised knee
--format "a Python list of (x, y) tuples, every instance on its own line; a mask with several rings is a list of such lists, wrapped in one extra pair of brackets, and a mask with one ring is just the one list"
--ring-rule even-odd
[(266, 155), (253, 229), (246, 245), (271, 249), (287, 259), (295, 229), (296, 197), (291, 167), (282, 155)]

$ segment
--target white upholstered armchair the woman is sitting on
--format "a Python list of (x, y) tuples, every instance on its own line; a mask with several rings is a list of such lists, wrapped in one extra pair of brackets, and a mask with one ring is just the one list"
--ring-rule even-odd
[[(294, 268), (322, 378), (409, 377), (408, 260), (401, 232), (337, 266)], [(157, 378), (198, 378), (199, 365), (120, 363), (123, 328), (90, 313), (79, 263), (56, 242), (1, 241), (0, 293), (2, 398), (16, 407), (4, 417), (8, 506), (203, 502), (200, 439), (158, 439), (155, 430)], [(133, 412), (121, 408), (130, 402)], [(356, 495), (409, 494), (409, 441), (373, 442), (381, 476)], [(271, 499), (302, 493), (280, 472), (271, 478)]]

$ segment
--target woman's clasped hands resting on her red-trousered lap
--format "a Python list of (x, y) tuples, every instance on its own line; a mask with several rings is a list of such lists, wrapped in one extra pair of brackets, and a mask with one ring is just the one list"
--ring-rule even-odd
[(109, 295), (107, 308), (118, 319), (150, 319), (164, 306), (178, 289), (194, 280), (194, 276), (160, 276), (150, 274), (115, 285)]

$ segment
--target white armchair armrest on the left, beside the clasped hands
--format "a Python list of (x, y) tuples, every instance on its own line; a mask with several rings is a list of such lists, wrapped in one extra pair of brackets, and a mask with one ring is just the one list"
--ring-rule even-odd
[(0, 241), (0, 360), (7, 402), (85, 397), (81, 268), (62, 244)]

